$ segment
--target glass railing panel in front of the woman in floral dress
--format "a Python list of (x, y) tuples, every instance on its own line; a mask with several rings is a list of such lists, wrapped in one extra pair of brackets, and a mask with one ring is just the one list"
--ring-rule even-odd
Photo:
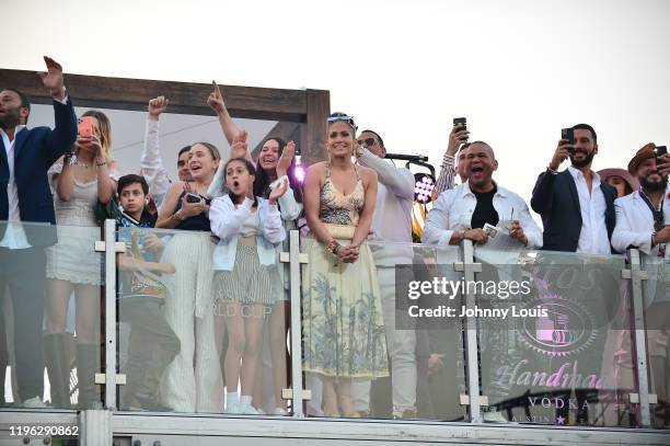
[(347, 263), (313, 238), (302, 245), (307, 414), (463, 420), (461, 325), (437, 316), (427, 288), (459, 279), (458, 248), (369, 241)]

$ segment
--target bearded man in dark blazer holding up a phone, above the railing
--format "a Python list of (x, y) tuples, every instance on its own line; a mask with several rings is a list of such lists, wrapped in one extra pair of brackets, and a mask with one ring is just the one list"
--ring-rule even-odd
[[(577, 124), (575, 144), (558, 141), (545, 172), (538, 178), (531, 207), (544, 225), (543, 249), (589, 254), (610, 254), (614, 230), (616, 190), (591, 170), (598, 153), (596, 130)], [(558, 172), (566, 159), (571, 165)]]

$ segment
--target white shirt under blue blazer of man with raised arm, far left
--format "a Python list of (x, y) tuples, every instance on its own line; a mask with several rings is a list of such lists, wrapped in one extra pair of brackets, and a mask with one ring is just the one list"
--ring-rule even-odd
[(7, 197), (9, 199), (9, 216), (7, 231), (4, 237), (0, 240), (0, 247), (9, 248), (11, 250), (20, 250), (31, 248), (25, 237), (25, 231), (21, 225), (21, 213), (19, 208), (19, 188), (16, 187), (16, 181), (14, 179), (14, 142), (16, 142), (16, 136), (20, 131), (25, 129), (25, 125), (18, 125), (14, 128), (14, 139), (10, 141), (9, 136), (2, 128), (0, 128), (0, 136), (2, 136), (2, 142), (4, 144), (4, 151), (7, 152), (7, 163), (10, 169), (10, 178), (7, 183)]

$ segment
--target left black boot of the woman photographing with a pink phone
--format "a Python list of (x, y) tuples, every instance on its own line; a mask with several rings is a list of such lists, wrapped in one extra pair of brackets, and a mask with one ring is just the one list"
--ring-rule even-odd
[(51, 387), (51, 407), (70, 409), (70, 333), (44, 335), (44, 356)]

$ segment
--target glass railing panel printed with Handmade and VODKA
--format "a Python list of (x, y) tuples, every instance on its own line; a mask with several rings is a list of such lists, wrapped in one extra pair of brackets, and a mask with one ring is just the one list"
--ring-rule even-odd
[(476, 248), (485, 421), (637, 427), (620, 255)]

